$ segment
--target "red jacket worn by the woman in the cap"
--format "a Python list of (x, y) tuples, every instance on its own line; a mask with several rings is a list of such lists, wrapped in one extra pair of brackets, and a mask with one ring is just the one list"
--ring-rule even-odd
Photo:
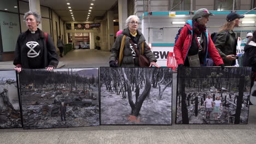
[[(184, 64), (185, 62), (185, 58), (188, 55), (188, 51), (190, 49), (191, 43), (192, 43), (192, 35), (193, 35), (193, 31), (191, 28), (192, 25), (192, 21), (188, 20), (187, 23), (185, 24), (186, 26), (184, 26), (182, 28), (181, 33), (179, 34), (179, 38), (176, 41), (174, 48), (173, 48), (173, 52), (177, 61), (177, 64)], [(191, 31), (190, 33), (188, 31)], [(210, 34), (208, 33), (208, 31), (206, 30), (206, 37), (207, 37), (207, 41), (208, 41), (208, 46), (206, 47), (206, 53), (210, 53), (210, 56), (213, 60), (213, 62), (216, 65), (220, 65), (223, 64), (223, 60), (222, 57), (220, 57), (218, 50), (216, 49), (216, 47), (214, 46), (212, 39), (210, 37)], [(206, 62), (206, 56), (205, 56), (205, 61), (204, 61), (204, 65)]]

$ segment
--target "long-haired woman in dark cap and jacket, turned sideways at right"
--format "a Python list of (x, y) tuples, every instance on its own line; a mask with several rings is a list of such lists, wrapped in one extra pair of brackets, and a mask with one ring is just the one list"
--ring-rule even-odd
[[(235, 65), (236, 60), (236, 34), (233, 31), (240, 24), (240, 19), (245, 16), (237, 13), (230, 13), (226, 16), (226, 22), (216, 36), (215, 46), (219, 51), (225, 65)], [(238, 37), (238, 39), (241, 39)]]

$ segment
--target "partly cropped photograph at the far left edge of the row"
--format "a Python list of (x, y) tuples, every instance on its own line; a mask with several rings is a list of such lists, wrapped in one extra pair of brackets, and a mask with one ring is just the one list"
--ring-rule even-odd
[(0, 70), (0, 128), (20, 128), (21, 115), (15, 70)]

